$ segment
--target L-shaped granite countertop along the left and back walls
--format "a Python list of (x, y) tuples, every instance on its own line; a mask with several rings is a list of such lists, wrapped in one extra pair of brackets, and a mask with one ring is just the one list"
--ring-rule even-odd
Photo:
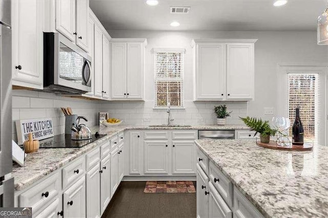
[(14, 177), (15, 190), (22, 190), (49, 173), (78, 158), (96, 146), (105, 143), (115, 134), (129, 129), (249, 129), (244, 125), (202, 125), (191, 127), (149, 127), (146, 125), (119, 125), (119, 126), (93, 126), (92, 133), (106, 134), (106, 137), (98, 139), (81, 148), (40, 148), (37, 152), (27, 154), (24, 166), (13, 165), (12, 176)]

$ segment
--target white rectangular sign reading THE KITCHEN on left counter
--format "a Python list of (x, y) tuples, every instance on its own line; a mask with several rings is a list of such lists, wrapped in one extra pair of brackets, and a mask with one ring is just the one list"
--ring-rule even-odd
[(53, 137), (53, 126), (51, 118), (39, 118), (33, 120), (16, 120), (18, 144), (22, 145), (28, 140), (29, 133), (33, 139), (42, 140)]

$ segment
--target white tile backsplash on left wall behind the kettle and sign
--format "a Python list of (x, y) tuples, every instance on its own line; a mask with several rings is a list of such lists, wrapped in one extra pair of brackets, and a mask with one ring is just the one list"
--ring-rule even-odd
[[(65, 117), (60, 107), (71, 107), (73, 114), (85, 116), (88, 126), (98, 124), (99, 101), (66, 98), (29, 90), (12, 92), (12, 139), (17, 142), (16, 120), (52, 118), (54, 135), (65, 133)], [(82, 123), (82, 122), (81, 122)]]

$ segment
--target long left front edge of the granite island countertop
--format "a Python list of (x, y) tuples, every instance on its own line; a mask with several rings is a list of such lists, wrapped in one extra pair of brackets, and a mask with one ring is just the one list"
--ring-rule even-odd
[[(244, 140), (249, 140), (249, 139), (244, 139)], [(244, 197), (249, 200), (251, 202), (251, 204), (253, 204), (253, 206), (258, 209), (260, 211), (260, 213), (267, 218), (270, 218), (271, 216), (268, 214), (267, 211), (265, 211), (258, 203), (257, 201), (255, 201), (246, 191), (244, 191), (237, 183), (234, 179), (232, 179), (229, 175), (229, 173), (224, 170), (218, 163), (216, 163), (211, 157), (210, 155), (201, 147), (200, 144), (198, 144), (197, 141), (195, 141), (196, 146), (203, 152), (203, 154), (209, 158), (209, 160), (212, 161), (212, 163), (219, 168), (219, 170), (223, 173), (224, 176), (226, 176), (233, 184), (235, 187), (237, 187), (237, 189), (244, 195)]]

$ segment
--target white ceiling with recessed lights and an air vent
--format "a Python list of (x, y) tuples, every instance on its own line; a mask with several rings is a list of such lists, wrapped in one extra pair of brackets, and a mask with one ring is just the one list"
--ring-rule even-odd
[[(161, 1), (90, 0), (90, 8), (108, 30), (231, 30), (315, 31), (326, 0), (289, 0), (274, 7), (273, 0)], [(171, 14), (170, 6), (189, 6), (189, 14)], [(179, 27), (171, 27), (178, 21)]]

